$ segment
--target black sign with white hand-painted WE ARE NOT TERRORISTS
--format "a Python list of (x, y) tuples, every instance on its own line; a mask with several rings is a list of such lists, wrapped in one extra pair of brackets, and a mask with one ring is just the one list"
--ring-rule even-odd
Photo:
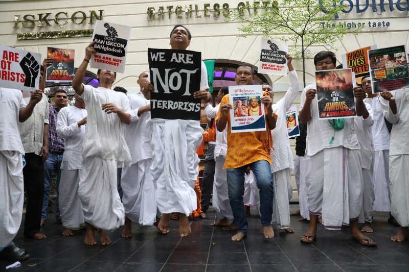
[(200, 120), (201, 53), (148, 48), (151, 118)]

